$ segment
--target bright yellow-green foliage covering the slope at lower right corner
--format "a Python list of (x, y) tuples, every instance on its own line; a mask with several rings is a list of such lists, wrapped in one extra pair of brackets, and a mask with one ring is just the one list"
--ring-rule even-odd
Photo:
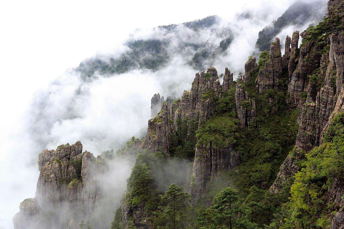
[(299, 228), (328, 228), (331, 203), (325, 192), (344, 173), (344, 114), (333, 117), (324, 135), (324, 143), (306, 154), (302, 169), (291, 187), (289, 208), (292, 215), (286, 224)]

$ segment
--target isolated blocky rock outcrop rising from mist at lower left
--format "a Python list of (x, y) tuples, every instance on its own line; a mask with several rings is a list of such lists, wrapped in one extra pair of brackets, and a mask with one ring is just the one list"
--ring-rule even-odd
[[(103, 172), (92, 153), (82, 153), (80, 141), (39, 154), (36, 197), (24, 200), (13, 218), (15, 229), (78, 228), (99, 200), (97, 175)], [(100, 160), (100, 159), (97, 159)]]

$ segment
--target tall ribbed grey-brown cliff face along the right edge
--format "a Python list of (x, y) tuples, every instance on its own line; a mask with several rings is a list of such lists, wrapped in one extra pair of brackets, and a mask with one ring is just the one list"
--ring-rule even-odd
[[(334, 14), (338, 6), (340, 6), (340, 1), (330, 0), (326, 16)], [(291, 178), (299, 169), (297, 162), (304, 156), (304, 152), (322, 143), (322, 136), (331, 123), (332, 117), (344, 108), (343, 31), (331, 34), (327, 40), (313, 39), (302, 43), (298, 64), (293, 71), (291, 64), (294, 63), (292, 61), (293, 46), (294, 50), (297, 50), (297, 45), (295, 45), (298, 40), (297, 32), (294, 32), (291, 42), (292, 54), (288, 66), (289, 76), (291, 76), (288, 87), (290, 100), (287, 102), (298, 106), (300, 126), (295, 142), (295, 155), (289, 155), (283, 162), (277, 179), (270, 188), (270, 191), (275, 193), (281, 190), (286, 178)], [(306, 36), (307, 32), (301, 33), (302, 38)], [(334, 220), (338, 221), (338, 219)], [(333, 224), (335, 224), (334, 221)]]

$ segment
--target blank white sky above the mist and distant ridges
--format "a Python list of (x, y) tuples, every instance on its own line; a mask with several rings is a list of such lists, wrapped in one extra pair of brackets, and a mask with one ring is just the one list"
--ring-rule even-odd
[[(57, 76), (63, 75), (66, 69), (78, 66), (85, 58), (116, 50), (136, 28), (182, 23), (214, 14), (230, 19), (247, 7), (252, 9), (264, 5), (267, 9), (273, 9), (274, 15), (281, 15), (292, 2), (2, 1), (0, 187), (8, 185), (10, 179), (23, 179), (27, 186), (24, 186), (25, 193), (21, 189), (23, 187), (17, 188), (18, 193), (4, 194), (0, 191), (0, 229), (8, 228), (14, 213), (19, 210), (20, 201), (34, 196), (38, 171), (36, 168), (33, 172), (24, 168), (20, 170), (23, 162), (13, 160), (10, 155), (13, 151), (20, 152), (18, 155), (25, 155), (32, 147), (20, 144), (28, 137), (25, 136), (26, 130), (21, 128), (24, 126), (23, 122), (28, 122), (22, 117), (37, 90), (46, 88)], [(66, 83), (69, 83), (68, 79)], [(108, 88), (108, 91), (111, 89)], [(15, 174), (9, 174), (11, 167)], [(1, 216), (4, 212), (8, 216)]]

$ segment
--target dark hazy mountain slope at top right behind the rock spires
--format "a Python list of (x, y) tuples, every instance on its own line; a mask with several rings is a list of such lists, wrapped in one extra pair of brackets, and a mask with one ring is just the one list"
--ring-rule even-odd
[(318, 23), (323, 18), (326, 2), (316, 1), (306, 3), (297, 1), (293, 3), (277, 20), (265, 26), (258, 34), (256, 48), (259, 51), (270, 49), (270, 44), (276, 35), (288, 25), (302, 26), (307, 21), (315, 21)]

